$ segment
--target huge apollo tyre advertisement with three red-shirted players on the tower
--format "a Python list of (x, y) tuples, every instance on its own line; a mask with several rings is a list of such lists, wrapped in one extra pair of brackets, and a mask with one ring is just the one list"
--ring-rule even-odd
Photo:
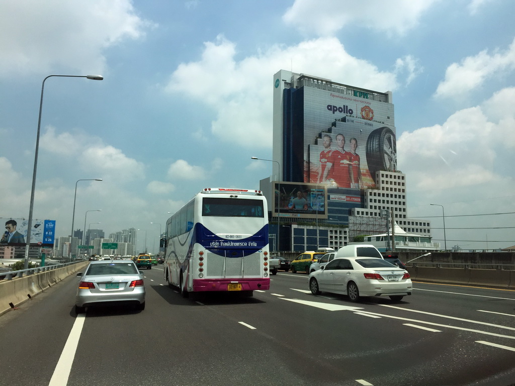
[(393, 104), (367, 97), (304, 87), (304, 182), (364, 189), (397, 170)]

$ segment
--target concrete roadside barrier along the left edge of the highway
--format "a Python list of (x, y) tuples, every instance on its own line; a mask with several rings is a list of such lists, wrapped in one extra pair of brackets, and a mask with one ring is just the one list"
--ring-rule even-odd
[(50, 271), (0, 281), (0, 315), (18, 307), (45, 289), (59, 283), (67, 276), (88, 266), (89, 261), (57, 268)]

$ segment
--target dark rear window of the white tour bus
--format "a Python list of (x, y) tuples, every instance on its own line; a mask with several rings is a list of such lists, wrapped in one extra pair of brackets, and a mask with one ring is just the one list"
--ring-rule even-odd
[(204, 197), (202, 199), (202, 216), (264, 217), (263, 201)]

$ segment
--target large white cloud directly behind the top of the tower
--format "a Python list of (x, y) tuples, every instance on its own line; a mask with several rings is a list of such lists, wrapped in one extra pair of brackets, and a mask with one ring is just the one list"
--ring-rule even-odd
[[(336, 38), (308, 40), (290, 47), (274, 45), (239, 62), (235, 55), (235, 44), (222, 36), (216, 42), (204, 43), (201, 59), (180, 64), (165, 90), (207, 104), (215, 113), (211, 126), (215, 135), (253, 148), (271, 147), (270, 74), (290, 68), (291, 63), (294, 72), (302, 69), (304, 74), (318, 74), (381, 91), (399, 87), (397, 74), (406, 74), (405, 82), (409, 82), (421, 71), (412, 57), (400, 59), (393, 72), (381, 71), (372, 63), (349, 55)], [(341, 74), (352, 74), (352, 78), (342, 79)]]

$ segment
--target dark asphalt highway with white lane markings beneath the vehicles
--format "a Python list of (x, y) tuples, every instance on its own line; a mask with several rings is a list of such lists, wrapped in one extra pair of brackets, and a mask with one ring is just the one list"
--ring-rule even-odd
[(0, 384), (515, 384), (515, 291), (415, 283), (356, 304), (279, 272), (253, 297), (192, 300), (144, 272), (144, 311), (76, 315), (71, 276), (0, 317)]

